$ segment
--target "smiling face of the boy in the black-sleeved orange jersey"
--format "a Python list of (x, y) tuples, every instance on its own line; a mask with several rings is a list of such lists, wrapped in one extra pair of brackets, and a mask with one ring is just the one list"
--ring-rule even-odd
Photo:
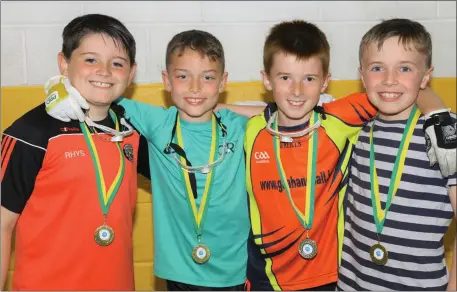
[(110, 36), (89, 34), (69, 60), (59, 53), (61, 74), (68, 77), (91, 108), (108, 108), (132, 82), (136, 65), (130, 65), (126, 51), (119, 44)]

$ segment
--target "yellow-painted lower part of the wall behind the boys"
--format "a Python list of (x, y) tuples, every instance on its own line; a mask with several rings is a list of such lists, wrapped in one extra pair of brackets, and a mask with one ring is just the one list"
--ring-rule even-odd
[[(436, 78), (431, 87), (444, 100), (446, 105), (456, 111), (456, 78)], [(336, 98), (353, 92), (363, 91), (358, 80), (333, 80), (327, 93)], [(131, 86), (125, 96), (154, 105), (168, 107), (171, 105), (169, 95), (161, 84), (144, 84)], [(1, 88), (1, 128), (2, 131), (21, 115), (41, 104), (45, 93), (41, 86), (17, 86)], [(221, 95), (221, 102), (262, 100), (271, 101), (271, 95), (265, 91), (262, 82), (233, 82), (227, 85), (226, 92)], [(135, 285), (137, 290), (166, 290), (165, 282), (154, 277), (153, 267), (153, 214), (151, 185), (141, 175), (138, 177), (138, 202), (134, 218), (133, 246), (135, 261)], [(452, 241), (455, 236), (455, 220), (445, 236), (446, 259), (450, 265)], [(11, 289), (10, 280), (14, 268), (14, 252), (8, 273), (7, 289)]]

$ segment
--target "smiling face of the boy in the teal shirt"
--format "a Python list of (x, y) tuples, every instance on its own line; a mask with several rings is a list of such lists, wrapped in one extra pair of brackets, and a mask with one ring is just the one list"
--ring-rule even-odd
[(174, 53), (162, 78), (180, 117), (194, 122), (211, 119), (227, 83), (227, 73), (222, 72), (218, 61), (191, 49), (179, 55)]

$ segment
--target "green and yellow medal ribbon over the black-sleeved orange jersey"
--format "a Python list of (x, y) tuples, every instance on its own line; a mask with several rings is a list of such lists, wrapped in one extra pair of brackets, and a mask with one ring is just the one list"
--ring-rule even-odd
[[(113, 121), (116, 123), (116, 130), (119, 131), (119, 122), (117, 120), (116, 114), (110, 110), (109, 114)], [(114, 178), (112, 184), (110, 185), (108, 191), (106, 191), (105, 185), (105, 178), (103, 176), (102, 166), (100, 164), (100, 159), (98, 157), (97, 148), (95, 147), (94, 140), (92, 139), (92, 135), (87, 127), (86, 123), (79, 123), (81, 130), (84, 134), (84, 139), (86, 140), (87, 147), (89, 148), (90, 155), (92, 157), (92, 162), (94, 164), (95, 169), (95, 178), (97, 181), (97, 191), (98, 191), (98, 198), (100, 201), (100, 205), (102, 207), (103, 215), (108, 215), (109, 207), (113, 202), (114, 197), (116, 196), (117, 191), (122, 182), (122, 178), (124, 177), (124, 169), (125, 169), (125, 162), (124, 156), (122, 153), (122, 149), (120, 143), (116, 142), (116, 146), (119, 150), (119, 169), (117, 171), (116, 177)]]

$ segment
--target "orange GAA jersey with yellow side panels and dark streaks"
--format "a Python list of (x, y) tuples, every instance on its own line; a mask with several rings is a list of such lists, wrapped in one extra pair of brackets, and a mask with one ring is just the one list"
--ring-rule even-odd
[[(306, 260), (298, 253), (306, 232), (288, 200), (277, 170), (273, 137), (266, 130), (269, 104), (251, 118), (245, 137), (246, 181), (251, 234), (248, 241), (248, 284), (251, 290), (302, 290), (336, 282), (344, 231), (342, 204), (348, 164), (355, 139), (376, 113), (365, 94), (353, 94), (318, 109), (314, 221), (309, 237), (318, 254)], [(307, 127), (280, 128), (297, 131)], [(314, 135), (316, 135), (314, 134)], [(292, 199), (304, 214), (308, 164), (307, 137), (280, 143), (281, 162)]]

